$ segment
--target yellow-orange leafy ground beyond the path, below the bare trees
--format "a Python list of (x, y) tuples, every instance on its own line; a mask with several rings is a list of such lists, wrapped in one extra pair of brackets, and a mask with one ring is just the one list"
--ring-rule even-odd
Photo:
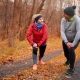
[[(47, 49), (45, 54), (59, 50), (61, 46), (61, 38), (49, 38), (47, 42)], [(0, 43), (0, 64), (6, 64), (10, 61), (19, 61), (32, 56), (32, 47), (27, 42), (16, 41), (13, 47), (8, 47), (7, 41)]]

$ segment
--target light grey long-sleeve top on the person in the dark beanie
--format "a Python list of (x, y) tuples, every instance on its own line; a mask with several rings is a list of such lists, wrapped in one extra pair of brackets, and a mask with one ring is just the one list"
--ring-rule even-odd
[(67, 21), (65, 18), (61, 20), (61, 36), (65, 43), (73, 41), (75, 46), (80, 39), (80, 18), (75, 15), (73, 22)]

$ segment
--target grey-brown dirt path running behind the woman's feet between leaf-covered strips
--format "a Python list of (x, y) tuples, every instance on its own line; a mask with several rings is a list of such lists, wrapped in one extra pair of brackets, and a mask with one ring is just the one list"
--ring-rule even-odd
[[(50, 54), (46, 54), (43, 60), (46, 62), (61, 54), (62, 50), (55, 51)], [(32, 67), (32, 58), (19, 61), (17, 63), (10, 63), (0, 66), (0, 78), (7, 77), (8, 75), (16, 75), (18, 71), (30, 69)]]

